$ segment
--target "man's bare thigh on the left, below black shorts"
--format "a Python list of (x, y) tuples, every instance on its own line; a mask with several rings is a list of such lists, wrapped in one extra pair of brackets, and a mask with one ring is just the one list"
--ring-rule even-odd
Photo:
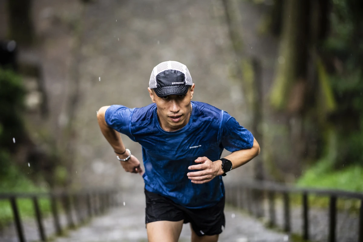
[(178, 242), (183, 220), (156, 221), (146, 224), (148, 242)]

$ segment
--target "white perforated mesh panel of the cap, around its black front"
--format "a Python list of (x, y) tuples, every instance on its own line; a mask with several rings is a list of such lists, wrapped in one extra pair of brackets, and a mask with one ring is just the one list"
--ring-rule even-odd
[(152, 70), (149, 81), (150, 89), (158, 87), (156, 83), (156, 75), (166, 70), (178, 70), (182, 72), (185, 76), (185, 85), (191, 86), (193, 84), (192, 77), (189, 73), (187, 66), (178, 61), (164, 61), (161, 62), (159, 65), (155, 66)]

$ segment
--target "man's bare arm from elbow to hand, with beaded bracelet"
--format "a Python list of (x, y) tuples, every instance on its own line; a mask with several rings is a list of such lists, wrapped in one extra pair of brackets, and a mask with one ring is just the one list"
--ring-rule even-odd
[[(109, 127), (106, 123), (105, 114), (107, 108), (109, 107), (110, 106), (103, 106), (98, 110), (98, 125), (101, 129), (103, 136), (105, 136), (106, 140), (110, 143), (114, 151), (117, 153), (123, 153), (126, 148), (122, 142), (121, 135), (116, 130)], [(129, 153), (127, 153), (127, 151), (123, 155), (118, 155), (120, 159), (125, 159), (127, 156), (129, 156)], [(142, 168), (140, 167), (140, 161), (134, 155), (131, 155), (130, 159), (128, 159), (127, 161), (120, 161), (120, 163), (123, 169), (125, 169), (125, 171), (127, 172), (139, 173), (140, 175), (143, 175), (144, 173)]]

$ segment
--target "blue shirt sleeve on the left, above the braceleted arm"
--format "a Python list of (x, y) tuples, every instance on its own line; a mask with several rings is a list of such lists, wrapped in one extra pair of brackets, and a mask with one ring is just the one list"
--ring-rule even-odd
[(106, 124), (114, 130), (132, 136), (130, 132), (130, 118), (133, 108), (122, 105), (111, 105), (105, 113)]

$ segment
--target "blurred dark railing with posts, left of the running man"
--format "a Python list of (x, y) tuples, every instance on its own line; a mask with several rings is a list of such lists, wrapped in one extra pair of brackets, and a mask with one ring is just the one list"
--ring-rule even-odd
[[(105, 213), (109, 208), (119, 205), (118, 200), (116, 199), (117, 193), (118, 191), (114, 189), (83, 190), (78, 192), (0, 193), (0, 200), (9, 200), (19, 241), (25, 242), (26, 237), (23, 230), (23, 223), (21, 221), (17, 200), (24, 198), (31, 199), (39, 231), (39, 238), (41, 241), (46, 241), (47, 235), (44, 229), (43, 216), (38, 202), (40, 198), (49, 199), (54, 228), (56, 234), (61, 235), (64, 228), (62, 228), (60, 223), (59, 204), (62, 204), (63, 206), (68, 227), (74, 228), (76, 225), (83, 224), (92, 216)], [(76, 213), (78, 223), (73, 219), (72, 209)]]

